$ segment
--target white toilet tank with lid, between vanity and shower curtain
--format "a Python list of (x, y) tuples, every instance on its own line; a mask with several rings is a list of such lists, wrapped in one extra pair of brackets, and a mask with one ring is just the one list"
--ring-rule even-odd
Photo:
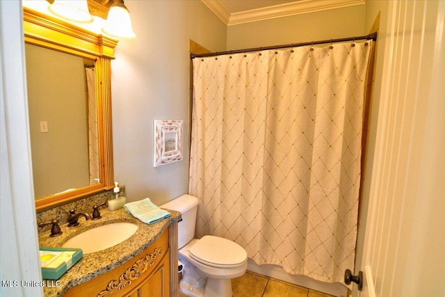
[(195, 237), (195, 223), (199, 200), (192, 195), (181, 195), (160, 207), (181, 212), (182, 220), (178, 224), (178, 248), (182, 248)]

